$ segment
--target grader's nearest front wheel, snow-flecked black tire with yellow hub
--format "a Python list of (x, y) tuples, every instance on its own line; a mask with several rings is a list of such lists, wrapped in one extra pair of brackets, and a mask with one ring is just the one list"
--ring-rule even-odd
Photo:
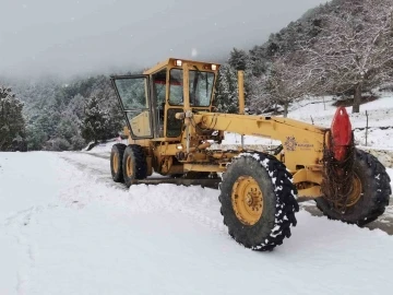
[[(296, 225), (295, 212), (299, 211), (297, 189), (290, 179), (285, 165), (271, 155), (252, 152), (234, 158), (223, 175), (218, 199), (224, 224), (236, 241), (252, 250), (266, 251), (290, 237), (290, 225)], [(245, 189), (238, 193), (241, 186)], [(251, 212), (251, 221), (238, 210), (239, 204), (247, 206), (249, 202), (246, 199), (241, 202), (241, 198), (249, 197), (252, 202), (257, 200), (259, 212)]]

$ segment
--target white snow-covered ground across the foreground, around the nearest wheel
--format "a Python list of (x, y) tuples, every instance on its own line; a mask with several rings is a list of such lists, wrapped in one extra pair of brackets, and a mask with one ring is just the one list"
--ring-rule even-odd
[(111, 181), (108, 160), (0, 153), (0, 294), (382, 294), (393, 237), (297, 214), (273, 252), (237, 245), (218, 191)]

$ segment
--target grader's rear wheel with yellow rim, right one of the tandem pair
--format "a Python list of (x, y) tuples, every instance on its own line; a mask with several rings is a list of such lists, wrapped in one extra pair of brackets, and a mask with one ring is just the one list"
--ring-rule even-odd
[(129, 144), (126, 148), (122, 172), (127, 187), (130, 187), (134, 179), (145, 179), (147, 177), (146, 155), (141, 145)]

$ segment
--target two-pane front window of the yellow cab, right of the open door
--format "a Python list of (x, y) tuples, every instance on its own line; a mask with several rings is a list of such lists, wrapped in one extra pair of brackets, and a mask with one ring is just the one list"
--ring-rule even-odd
[[(190, 105), (194, 107), (206, 107), (211, 104), (214, 73), (190, 70)], [(169, 104), (183, 104), (183, 71), (171, 69), (169, 79)]]

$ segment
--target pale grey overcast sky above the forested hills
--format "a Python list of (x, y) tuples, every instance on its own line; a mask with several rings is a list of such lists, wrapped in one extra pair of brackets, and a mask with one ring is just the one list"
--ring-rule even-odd
[(0, 0), (0, 74), (74, 75), (219, 62), (326, 0)]

